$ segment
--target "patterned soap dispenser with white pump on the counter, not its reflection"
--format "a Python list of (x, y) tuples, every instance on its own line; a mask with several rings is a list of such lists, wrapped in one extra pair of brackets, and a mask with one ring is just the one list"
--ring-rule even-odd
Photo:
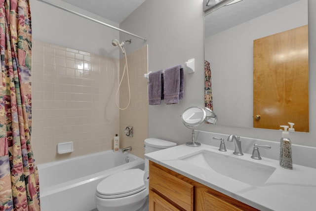
[(280, 166), (284, 169), (293, 169), (292, 167), (292, 144), (287, 131), (288, 126), (280, 126), (284, 128), (282, 138), (280, 140)]

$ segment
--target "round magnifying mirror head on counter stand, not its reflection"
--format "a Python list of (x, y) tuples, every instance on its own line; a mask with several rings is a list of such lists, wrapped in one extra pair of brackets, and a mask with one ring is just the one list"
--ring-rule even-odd
[(206, 112), (204, 109), (194, 106), (187, 108), (182, 114), (182, 123), (190, 128), (197, 129), (202, 126), (206, 118)]

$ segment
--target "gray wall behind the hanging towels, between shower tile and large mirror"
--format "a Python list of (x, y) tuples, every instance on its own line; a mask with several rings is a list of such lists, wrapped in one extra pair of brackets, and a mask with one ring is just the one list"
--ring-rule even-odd
[[(146, 0), (120, 28), (147, 38), (149, 71), (196, 59), (196, 72), (185, 73), (184, 99), (179, 104), (165, 105), (162, 101), (161, 105), (149, 106), (149, 137), (177, 143), (189, 141), (192, 131), (182, 124), (180, 115), (187, 107), (204, 104), (202, 0)], [(120, 34), (120, 38), (126, 35)]]

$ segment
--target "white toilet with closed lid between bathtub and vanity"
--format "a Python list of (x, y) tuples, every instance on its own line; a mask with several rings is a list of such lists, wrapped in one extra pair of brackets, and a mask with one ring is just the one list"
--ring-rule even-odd
[[(177, 144), (157, 138), (145, 140), (145, 154), (176, 146)], [(144, 183), (145, 169), (127, 169), (102, 180), (96, 190), (98, 211), (148, 211), (148, 189)]]

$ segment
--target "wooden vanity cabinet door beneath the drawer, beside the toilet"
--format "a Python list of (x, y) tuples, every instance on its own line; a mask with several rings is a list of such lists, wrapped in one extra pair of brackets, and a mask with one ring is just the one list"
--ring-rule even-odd
[(153, 191), (149, 191), (149, 211), (180, 211), (172, 204), (161, 198)]

